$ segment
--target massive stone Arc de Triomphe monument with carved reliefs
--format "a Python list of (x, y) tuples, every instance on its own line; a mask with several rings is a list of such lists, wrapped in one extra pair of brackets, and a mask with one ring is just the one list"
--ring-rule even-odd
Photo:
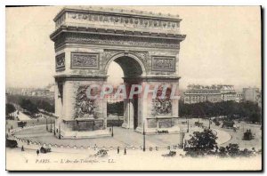
[[(90, 84), (106, 84), (117, 62), (131, 84), (179, 84), (178, 53), (185, 35), (179, 16), (151, 12), (65, 7), (53, 19), (56, 136), (109, 135), (107, 100), (90, 100)], [(122, 127), (137, 132), (178, 132), (178, 100), (124, 100)], [(164, 108), (163, 108), (164, 107)], [(164, 110), (162, 110), (164, 109)]]

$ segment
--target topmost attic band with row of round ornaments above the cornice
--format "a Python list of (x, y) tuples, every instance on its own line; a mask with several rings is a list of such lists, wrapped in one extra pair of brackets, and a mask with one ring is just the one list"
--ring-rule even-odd
[[(66, 15), (66, 18), (65, 16)], [(153, 28), (178, 30), (180, 19), (155, 18), (132, 14), (100, 13), (100, 12), (75, 12), (68, 11), (62, 13), (56, 20), (56, 28), (59, 28), (63, 22), (93, 23), (95, 25), (110, 25), (128, 28)]]

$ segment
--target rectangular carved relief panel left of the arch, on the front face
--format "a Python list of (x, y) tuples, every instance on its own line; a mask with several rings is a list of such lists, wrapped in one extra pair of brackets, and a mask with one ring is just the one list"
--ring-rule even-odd
[(99, 69), (99, 54), (91, 52), (71, 52), (71, 68)]

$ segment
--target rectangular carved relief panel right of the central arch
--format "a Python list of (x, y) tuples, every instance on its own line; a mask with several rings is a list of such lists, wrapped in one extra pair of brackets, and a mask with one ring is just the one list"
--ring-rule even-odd
[(152, 71), (175, 72), (175, 57), (152, 56)]

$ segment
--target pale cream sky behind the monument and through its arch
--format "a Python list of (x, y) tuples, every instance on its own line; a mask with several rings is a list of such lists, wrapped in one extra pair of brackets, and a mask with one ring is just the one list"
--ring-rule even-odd
[[(115, 7), (116, 8), (116, 7)], [(261, 87), (261, 19), (257, 6), (120, 6), (179, 14), (180, 88), (188, 84), (233, 84)], [(49, 35), (60, 6), (6, 8), (6, 86), (44, 87), (53, 83), (54, 49)], [(110, 74), (110, 73), (117, 74)], [(117, 63), (109, 83), (122, 81)]]

